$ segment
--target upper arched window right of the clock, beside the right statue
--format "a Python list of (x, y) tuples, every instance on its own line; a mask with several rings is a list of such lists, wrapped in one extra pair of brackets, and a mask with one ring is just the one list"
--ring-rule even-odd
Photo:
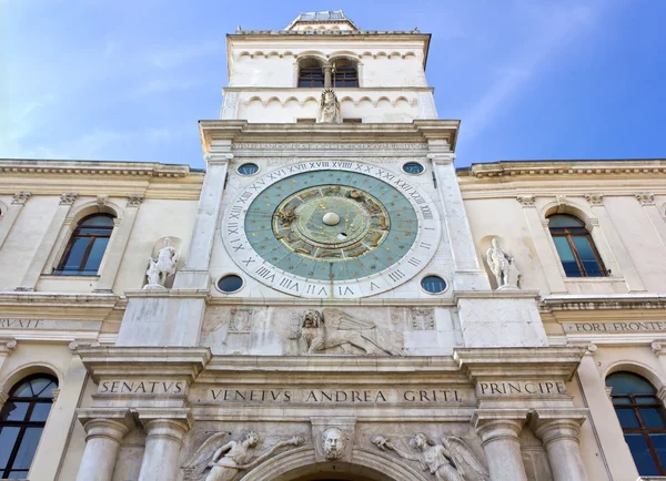
[(573, 215), (555, 214), (548, 217), (548, 228), (567, 277), (608, 275), (583, 221)]

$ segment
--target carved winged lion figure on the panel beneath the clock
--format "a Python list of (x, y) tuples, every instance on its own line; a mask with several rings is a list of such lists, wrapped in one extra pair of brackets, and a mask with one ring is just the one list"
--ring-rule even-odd
[(402, 350), (391, 346), (389, 340), (373, 339), (381, 336), (373, 321), (355, 319), (340, 309), (326, 309), (326, 318), (324, 323), (323, 311), (315, 309), (303, 314), (301, 337), (305, 340), (306, 354), (320, 354), (336, 347), (344, 354), (352, 354), (349, 349), (353, 346), (371, 356), (402, 355)]

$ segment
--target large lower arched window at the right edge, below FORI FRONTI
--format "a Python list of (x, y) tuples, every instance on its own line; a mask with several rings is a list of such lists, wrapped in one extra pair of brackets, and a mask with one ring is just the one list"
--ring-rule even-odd
[(656, 390), (632, 372), (606, 378), (615, 413), (640, 475), (666, 474), (666, 417)]

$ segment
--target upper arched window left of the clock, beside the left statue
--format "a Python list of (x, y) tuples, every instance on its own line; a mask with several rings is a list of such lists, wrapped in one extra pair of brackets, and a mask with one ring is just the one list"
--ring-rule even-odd
[(113, 218), (110, 214), (93, 214), (83, 218), (74, 229), (62, 260), (53, 274), (97, 275), (113, 231)]

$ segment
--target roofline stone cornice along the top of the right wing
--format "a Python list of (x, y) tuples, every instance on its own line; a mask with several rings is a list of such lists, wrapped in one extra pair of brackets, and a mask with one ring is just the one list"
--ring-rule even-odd
[(598, 175), (653, 175), (666, 174), (666, 160), (613, 160), (613, 161), (518, 161), (472, 164), (460, 168), (458, 176), (476, 178), (543, 176), (574, 174)]

